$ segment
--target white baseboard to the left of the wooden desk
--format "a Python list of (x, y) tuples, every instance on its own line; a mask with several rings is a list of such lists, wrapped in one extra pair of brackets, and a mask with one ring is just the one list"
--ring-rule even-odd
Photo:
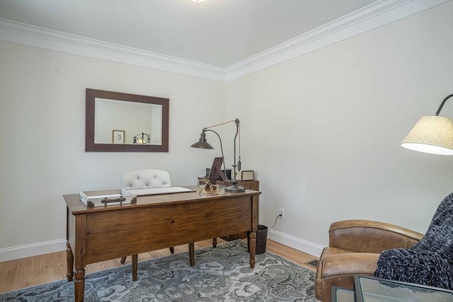
[(66, 239), (0, 248), (0, 262), (66, 250)]

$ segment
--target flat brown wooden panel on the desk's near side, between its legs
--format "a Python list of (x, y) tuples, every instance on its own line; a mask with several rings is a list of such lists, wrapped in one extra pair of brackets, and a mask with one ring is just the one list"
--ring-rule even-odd
[(131, 207), (86, 216), (87, 263), (251, 231), (252, 197)]

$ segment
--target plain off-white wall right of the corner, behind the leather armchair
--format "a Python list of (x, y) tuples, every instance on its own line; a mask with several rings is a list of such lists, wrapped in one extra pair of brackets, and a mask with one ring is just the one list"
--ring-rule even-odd
[[(270, 238), (316, 252), (340, 219), (425, 232), (453, 192), (453, 157), (400, 143), (453, 93), (452, 32), (450, 1), (227, 83), (226, 115), (240, 111), (243, 161), (263, 192), (260, 223), (285, 209)], [(441, 113), (453, 118), (453, 100)]]

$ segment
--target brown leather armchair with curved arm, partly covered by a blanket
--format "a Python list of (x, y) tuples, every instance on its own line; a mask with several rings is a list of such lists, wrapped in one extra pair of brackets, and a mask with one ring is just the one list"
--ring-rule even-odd
[(315, 294), (331, 301), (331, 287), (354, 289), (354, 274), (374, 275), (380, 252), (411, 248), (422, 233), (390, 223), (369, 220), (336, 221), (329, 228), (329, 246), (316, 269)]

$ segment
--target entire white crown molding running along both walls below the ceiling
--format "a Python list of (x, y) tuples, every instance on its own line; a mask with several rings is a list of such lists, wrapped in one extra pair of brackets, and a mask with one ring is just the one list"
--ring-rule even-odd
[(62, 33), (5, 18), (0, 18), (0, 40), (215, 81), (231, 81), (447, 1), (452, 0), (377, 1), (226, 68)]

